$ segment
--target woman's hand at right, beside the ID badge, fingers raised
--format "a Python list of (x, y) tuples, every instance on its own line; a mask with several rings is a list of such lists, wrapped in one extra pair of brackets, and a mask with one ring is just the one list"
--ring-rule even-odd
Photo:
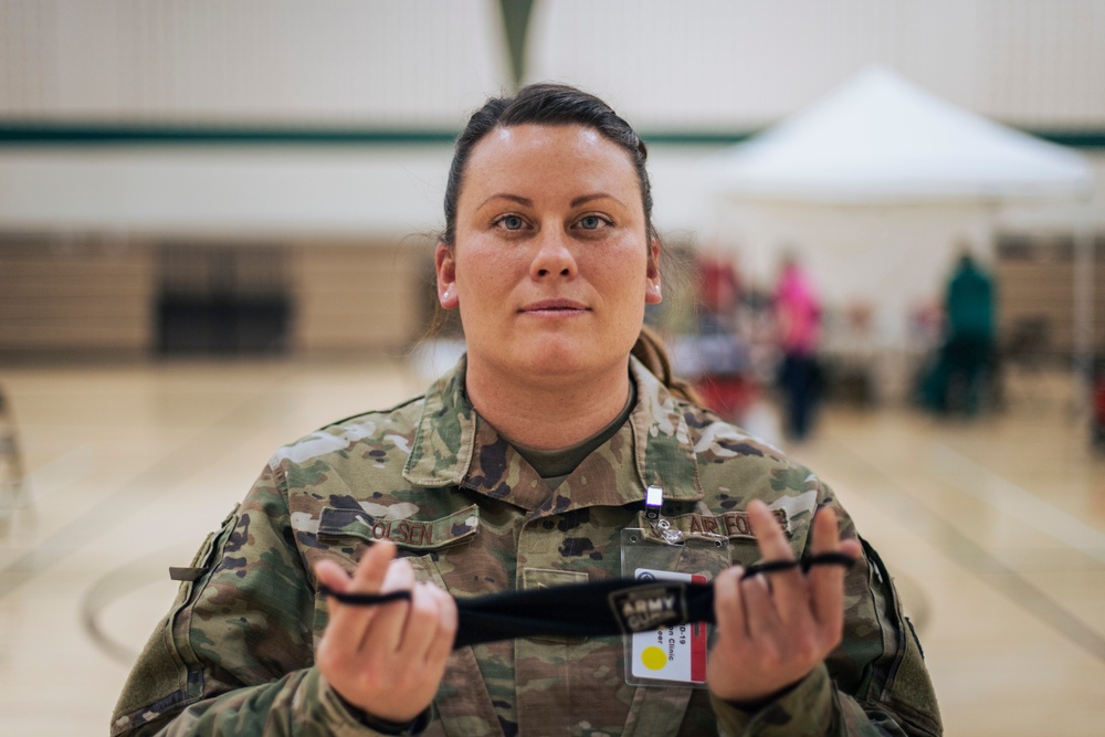
[[(760, 501), (748, 517), (765, 561), (793, 560), (794, 552), (775, 515)], [(836, 514), (813, 518), (811, 552), (860, 557), (856, 540), (841, 540)], [(718, 638), (709, 654), (711, 692), (727, 702), (756, 704), (798, 683), (840, 644), (844, 627), (841, 566), (813, 566), (753, 576), (734, 566), (714, 581)], [(770, 576), (770, 583), (768, 582)]]

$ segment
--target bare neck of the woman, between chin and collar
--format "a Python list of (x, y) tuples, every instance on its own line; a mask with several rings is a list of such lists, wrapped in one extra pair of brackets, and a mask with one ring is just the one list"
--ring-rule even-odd
[(522, 379), (474, 362), (465, 375), (469, 400), (499, 434), (535, 450), (581, 443), (609, 425), (629, 398), (629, 367), (602, 376)]

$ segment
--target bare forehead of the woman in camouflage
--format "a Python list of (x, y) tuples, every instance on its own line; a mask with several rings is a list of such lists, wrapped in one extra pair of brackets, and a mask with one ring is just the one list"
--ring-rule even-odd
[(640, 191), (629, 151), (594, 128), (528, 124), (496, 127), (473, 147), (461, 197), (470, 189), (537, 183)]

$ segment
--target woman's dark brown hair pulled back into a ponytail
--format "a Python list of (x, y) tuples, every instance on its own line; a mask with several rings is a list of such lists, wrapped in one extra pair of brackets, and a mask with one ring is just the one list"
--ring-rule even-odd
[[(602, 137), (624, 150), (633, 162), (641, 186), (646, 236), (660, 238), (652, 225), (652, 185), (645, 162), (649, 149), (632, 126), (604, 102), (576, 87), (555, 83), (537, 83), (523, 87), (514, 97), (492, 97), (469, 118), (456, 138), (453, 162), (445, 182), (445, 230), (439, 240), (449, 248), (455, 245), (456, 202), (464, 186), (464, 172), (476, 144), (495, 128), (519, 125), (578, 125), (597, 130)], [(667, 389), (682, 399), (701, 404), (695, 389), (672, 375), (671, 361), (663, 341), (650, 328), (642, 326), (632, 354), (656, 375)]]

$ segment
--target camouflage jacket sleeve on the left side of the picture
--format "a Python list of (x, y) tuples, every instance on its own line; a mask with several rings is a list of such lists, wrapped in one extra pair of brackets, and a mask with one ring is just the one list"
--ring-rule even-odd
[(314, 667), (314, 588), (266, 466), (208, 536), (139, 655), (112, 735), (366, 735)]

